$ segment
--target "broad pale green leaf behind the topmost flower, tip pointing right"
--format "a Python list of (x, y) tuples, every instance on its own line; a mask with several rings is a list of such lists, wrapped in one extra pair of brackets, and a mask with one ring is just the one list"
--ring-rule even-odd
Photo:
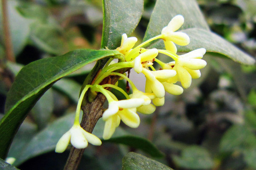
[[(236, 62), (248, 65), (255, 63), (255, 59), (248, 54), (209, 31), (195, 0), (157, 0), (144, 41), (161, 34), (163, 27), (167, 26), (172, 17), (177, 14), (183, 15), (185, 19), (184, 25), (178, 31), (185, 32), (190, 37), (189, 45), (177, 45), (178, 52), (189, 52), (197, 48), (206, 48), (207, 52), (224, 55)], [(150, 48), (163, 49), (163, 40), (155, 41), (150, 45)]]

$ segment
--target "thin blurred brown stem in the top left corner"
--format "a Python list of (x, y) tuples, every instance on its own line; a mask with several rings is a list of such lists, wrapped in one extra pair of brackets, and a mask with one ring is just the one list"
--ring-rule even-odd
[(2, 12), (3, 13), (3, 34), (4, 34), (4, 43), (6, 48), (6, 59), (8, 61), (15, 62), (11, 31), (9, 27), (7, 0), (2, 0), (2, 11), (3, 11)]

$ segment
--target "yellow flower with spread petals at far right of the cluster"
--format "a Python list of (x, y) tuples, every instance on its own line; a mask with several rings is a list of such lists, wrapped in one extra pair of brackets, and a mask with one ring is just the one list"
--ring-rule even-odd
[(189, 88), (193, 79), (201, 77), (199, 69), (204, 68), (207, 62), (201, 59), (206, 53), (205, 48), (199, 48), (189, 53), (179, 55), (174, 62), (168, 63), (171, 68), (177, 72), (176, 76), (169, 79), (167, 82), (181, 82), (184, 88)]

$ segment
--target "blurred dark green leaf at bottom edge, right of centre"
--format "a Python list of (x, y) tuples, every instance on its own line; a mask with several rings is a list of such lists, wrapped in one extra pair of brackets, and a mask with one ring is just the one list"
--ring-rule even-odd
[(186, 169), (211, 169), (214, 165), (208, 151), (202, 147), (191, 146), (182, 150), (181, 156), (173, 156), (177, 166)]

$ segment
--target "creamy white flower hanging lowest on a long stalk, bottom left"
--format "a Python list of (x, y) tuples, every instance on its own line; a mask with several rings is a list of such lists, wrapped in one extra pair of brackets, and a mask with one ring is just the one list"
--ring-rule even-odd
[(93, 145), (102, 144), (101, 140), (97, 136), (88, 133), (80, 125), (73, 125), (69, 131), (61, 136), (61, 139), (59, 139), (58, 143), (56, 144), (55, 152), (64, 152), (69, 142), (71, 142), (71, 144), (78, 149), (87, 147), (88, 142)]

